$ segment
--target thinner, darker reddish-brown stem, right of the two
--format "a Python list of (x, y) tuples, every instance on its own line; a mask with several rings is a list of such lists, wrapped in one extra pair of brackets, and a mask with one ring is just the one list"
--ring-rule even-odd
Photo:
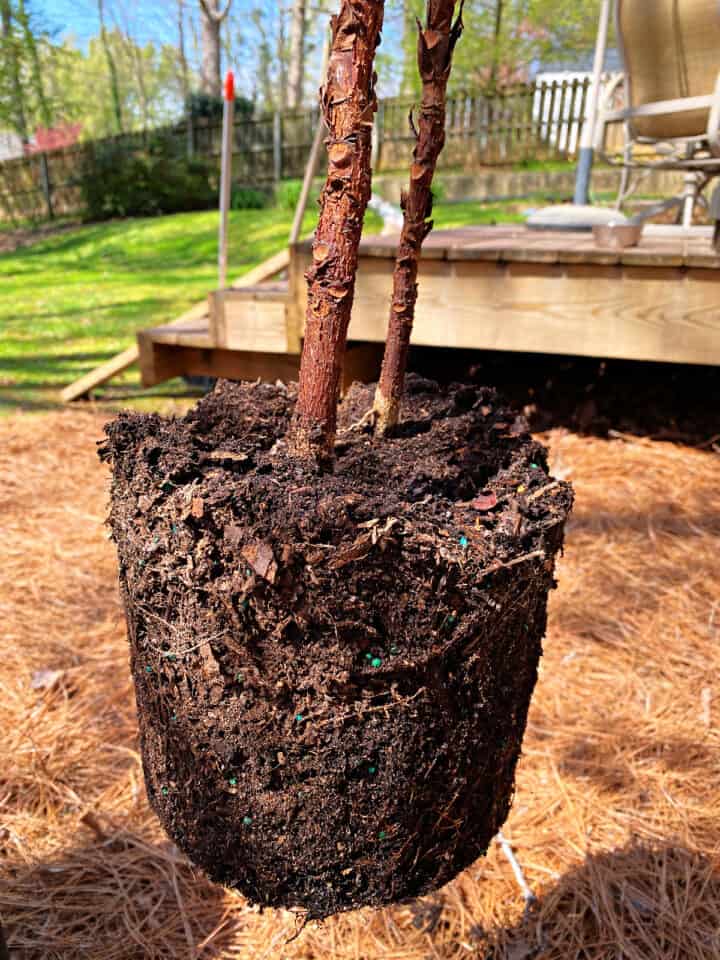
[(403, 193), (403, 228), (400, 234), (385, 356), (375, 393), (375, 429), (386, 433), (398, 422), (400, 400), (410, 347), (420, 250), (432, 230), (432, 181), (445, 145), (445, 97), (452, 54), (462, 33), (462, 3), (453, 23), (457, 0), (428, 0), (427, 25), (418, 21), (418, 66), (422, 101), (417, 142), (410, 169), (410, 187)]

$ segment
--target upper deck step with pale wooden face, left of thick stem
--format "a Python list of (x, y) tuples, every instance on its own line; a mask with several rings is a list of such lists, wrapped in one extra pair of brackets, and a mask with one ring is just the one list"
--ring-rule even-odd
[(223, 350), (296, 353), (288, 337), (288, 284), (263, 283), (210, 294), (210, 337)]

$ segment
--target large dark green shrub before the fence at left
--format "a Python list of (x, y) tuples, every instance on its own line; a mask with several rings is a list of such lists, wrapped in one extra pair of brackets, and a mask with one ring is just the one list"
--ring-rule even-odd
[(141, 146), (120, 138), (88, 152), (80, 180), (88, 219), (206, 210), (217, 200), (210, 170), (184, 143), (156, 136)]

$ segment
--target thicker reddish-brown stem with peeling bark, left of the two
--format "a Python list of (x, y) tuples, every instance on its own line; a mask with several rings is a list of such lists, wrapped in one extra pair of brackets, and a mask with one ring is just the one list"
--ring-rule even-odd
[(329, 130), (328, 175), (307, 272), (308, 306), (300, 389), (290, 446), (299, 456), (332, 458), (342, 360), (370, 199), (370, 151), (377, 109), (373, 62), (383, 0), (342, 0), (332, 20), (327, 82), (320, 102)]

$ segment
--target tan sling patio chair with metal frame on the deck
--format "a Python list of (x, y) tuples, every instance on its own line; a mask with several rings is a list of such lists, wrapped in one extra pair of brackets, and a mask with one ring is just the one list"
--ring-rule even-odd
[[(633, 192), (634, 171), (683, 172), (682, 195), (643, 219), (677, 206), (688, 227), (702, 191), (720, 176), (720, 3), (615, 0), (615, 25), (625, 105), (612, 109), (606, 97), (595, 127), (596, 150), (622, 166), (618, 206)], [(625, 130), (619, 153), (606, 149), (608, 128), (616, 123)], [(720, 193), (712, 215), (720, 219)]]

